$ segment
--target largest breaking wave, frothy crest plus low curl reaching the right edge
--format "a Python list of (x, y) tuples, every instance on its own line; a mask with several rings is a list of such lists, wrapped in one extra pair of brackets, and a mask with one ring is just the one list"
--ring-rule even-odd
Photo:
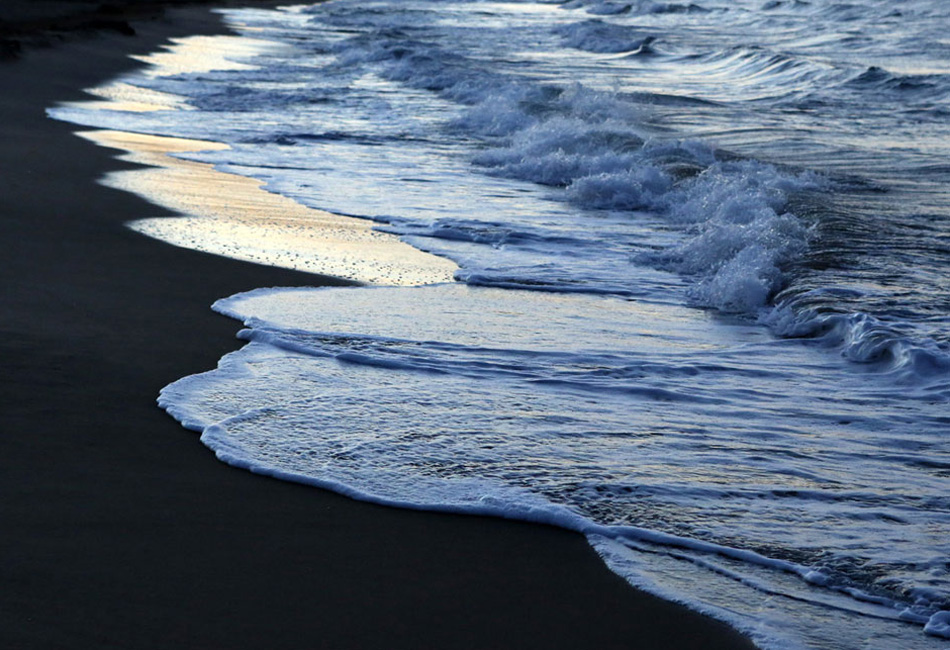
[[(528, 117), (521, 104), (510, 102), (501, 119), (513, 133), (506, 133), (503, 146), (476, 154), (473, 162), (494, 175), (558, 188), (563, 200), (587, 210), (662, 214), (682, 233), (682, 241), (634, 259), (687, 278), (687, 295), (696, 306), (758, 318), (779, 336), (820, 339), (846, 359), (883, 372), (926, 381), (946, 371), (947, 354), (935, 343), (908, 339), (871, 316), (817, 318), (791, 304), (772, 309), (775, 296), (794, 281), (793, 269), (814, 236), (815, 222), (797, 216), (790, 205), (802, 193), (830, 191), (834, 181), (755, 160), (717, 160), (703, 143), (644, 140), (628, 120), (607, 108), (614, 100), (600, 99), (605, 98), (573, 88), (558, 96), (558, 108), (547, 119)], [(598, 117), (608, 119), (575, 110), (590, 104), (599, 106)], [(499, 131), (509, 130), (491, 132)], [(511, 276), (463, 270), (459, 277), (472, 284), (531, 288)], [(541, 288), (588, 287), (555, 283)], [(790, 319), (786, 309), (796, 315)]]

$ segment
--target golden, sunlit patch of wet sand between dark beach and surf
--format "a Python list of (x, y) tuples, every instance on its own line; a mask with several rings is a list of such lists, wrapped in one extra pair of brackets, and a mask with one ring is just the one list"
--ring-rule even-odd
[(368, 220), (305, 207), (265, 190), (261, 181), (174, 155), (227, 145), (98, 129), (77, 135), (124, 151), (122, 160), (143, 166), (109, 174), (100, 183), (184, 215), (127, 224), (154, 239), (353, 284), (452, 282), (458, 269), (445, 258), (375, 230)]

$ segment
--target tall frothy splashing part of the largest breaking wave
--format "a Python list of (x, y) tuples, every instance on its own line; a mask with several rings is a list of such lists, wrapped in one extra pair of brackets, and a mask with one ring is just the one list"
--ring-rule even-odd
[(583, 107), (597, 96), (575, 88), (559, 98), (568, 115), (535, 121), (503, 146), (473, 158), (495, 175), (563, 189), (589, 210), (654, 210), (684, 241), (641, 263), (675, 270), (694, 283), (701, 306), (753, 313), (784, 286), (784, 268), (808, 247), (808, 229), (785, 210), (790, 194), (823, 183), (816, 174), (781, 172), (757, 161), (716, 161), (697, 142), (644, 141), (629, 122)]

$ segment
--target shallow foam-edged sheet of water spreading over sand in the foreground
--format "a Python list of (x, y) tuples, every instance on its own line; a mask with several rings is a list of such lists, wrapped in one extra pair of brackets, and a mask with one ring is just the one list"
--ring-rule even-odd
[[(944, 552), (912, 532), (950, 523), (939, 472), (919, 472), (940, 409), (918, 402), (925, 429), (899, 433), (903, 400), (820, 350), (686, 308), (464, 285), (259, 290), (215, 308), (249, 344), (160, 403), (228, 463), (583, 532), (633, 584), (769, 647), (928, 647), (897, 622), (941, 629), (941, 581), (894, 565)], [(820, 630), (792, 622), (816, 616)]]

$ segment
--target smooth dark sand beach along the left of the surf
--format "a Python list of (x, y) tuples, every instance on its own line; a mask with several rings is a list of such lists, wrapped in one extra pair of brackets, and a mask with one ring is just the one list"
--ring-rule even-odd
[(113, 22), (73, 29), (70, 3), (27, 4), (37, 15), (4, 18), (19, 54), (0, 62), (0, 646), (751, 647), (630, 588), (579, 535), (357, 503), (215, 460), (155, 405), (240, 345), (209, 305), (334, 280), (132, 232), (162, 210), (96, 184), (128, 163), (45, 116), (128, 54), (221, 31), (207, 8), (112, 3)]

